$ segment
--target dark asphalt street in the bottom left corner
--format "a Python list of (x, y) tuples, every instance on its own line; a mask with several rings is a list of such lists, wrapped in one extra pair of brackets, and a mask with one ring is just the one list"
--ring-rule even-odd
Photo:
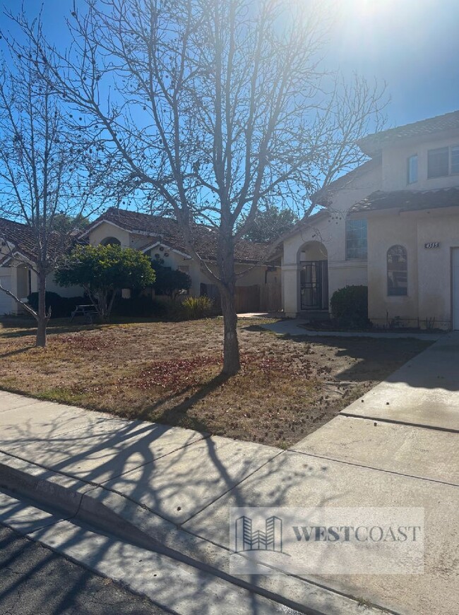
[(0, 615), (162, 615), (114, 581), (95, 575), (0, 525)]

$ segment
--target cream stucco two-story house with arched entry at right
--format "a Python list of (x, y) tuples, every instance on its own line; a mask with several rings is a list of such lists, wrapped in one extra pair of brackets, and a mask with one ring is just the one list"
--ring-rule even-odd
[(459, 329), (459, 112), (369, 135), (370, 160), (316, 194), (283, 242), (287, 316), (368, 285), (375, 324)]

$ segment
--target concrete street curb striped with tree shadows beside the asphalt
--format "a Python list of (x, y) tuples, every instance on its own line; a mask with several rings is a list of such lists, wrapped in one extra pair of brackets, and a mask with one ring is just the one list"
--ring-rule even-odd
[[(8, 460), (8, 463), (5, 462), (6, 460)], [(105, 506), (104, 503), (97, 501), (90, 495), (93, 491), (104, 489), (102, 486), (73, 479), (66, 474), (52, 472), (4, 452), (0, 453), (1, 487), (13, 494), (22, 495), (41, 503), (45, 508), (53, 508), (65, 513), (68, 515), (66, 520), (78, 520), (78, 522), (94, 527), (95, 530), (114, 535), (117, 539), (129, 542), (136, 547), (157, 551), (187, 566), (210, 573), (234, 586), (242, 587), (256, 595), (283, 604), (290, 609), (295, 609), (304, 615), (355, 615), (361, 613), (365, 615), (381, 615), (381, 613), (398, 615), (396, 611), (376, 604), (370, 606), (366, 603), (362, 608), (359, 601), (351, 595), (330, 590), (323, 585), (311, 583), (308, 580), (285, 573), (280, 573), (282, 575), (280, 587), (282, 587), (285, 595), (262, 586), (263, 578), (266, 578), (266, 575), (257, 575), (254, 582), (234, 577), (215, 565), (196, 559), (196, 557), (177, 551), (177, 549), (172, 549), (165, 543), (167, 542), (167, 535), (171, 535), (170, 542), (177, 542), (178, 539), (182, 547), (185, 547), (184, 551), (186, 546), (189, 547), (189, 551), (190, 547), (191, 551), (193, 551), (193, 547), (201, 547), (197, 551), (201, 550), (203, 559), (205, 559), (205, 551), (217, 551), (216, 559), (220, 559), (220, 561), (222, 561), (222, 556), (226, 559), (228, 554), (226, 549), (186, 532), (177, 525), (158, 517), (150, 510), (143, 509), (137, 503), (129, 501), (121, 494), (107, 491), (107, 494), (115, 500), (121, 498), (123, 506), (127, 503), (128, 506), (136, 507), (136, 513), (140, 517), (145, 514), (148, 517), (153, 517), (153, 527), (150, 527), (150, 529), (153, 529), (159, 535), (162, 534), (162, 539), (155, 539), (150, 532), (145, 532), (119, 515), (116, 512), (116, 502), (114, 506)], [(251, 578), (254, 579), (254, 577)], [(269, 583), (266, 583), (266, 585), (269, 585)], [(287, 595), (290, 597), (287, 597)], [(302, 597), (302, 601), (299, 602), (298, 599), (292, 598), (294, 595)], [(308, 603), (307, 607), (305, 606), (306, 602)]]

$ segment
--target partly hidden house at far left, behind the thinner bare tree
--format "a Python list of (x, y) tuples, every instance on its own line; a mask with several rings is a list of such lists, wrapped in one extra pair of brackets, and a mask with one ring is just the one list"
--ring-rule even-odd
[[(72, 240), (61, 234), (49, 237), (49, 256), (58, 258), (71, 245)], [(31, 292), (37, 292), (37, 275), (30, 269), (36, 261), (35, 238), (28, 225), (0, 218), (0, 284), (16, 294), (18, 299), (27, 299)], [(62, 288), (47, 278), (47, 290), (58, 292), (62, 297), (75, 297), (82, 294), (79, 287)], [(16, 301), (0, 291), (0, 315), (18, 314), (20, 307)]]

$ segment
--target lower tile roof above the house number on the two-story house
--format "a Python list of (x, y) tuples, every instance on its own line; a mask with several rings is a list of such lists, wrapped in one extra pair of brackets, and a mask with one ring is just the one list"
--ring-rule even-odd
[(352, 205), (349, 213), (381, 211), (398, 208), (402, 211), (419, 211), (459, 206), (459, 187), (437, 190), (377, 191)]

